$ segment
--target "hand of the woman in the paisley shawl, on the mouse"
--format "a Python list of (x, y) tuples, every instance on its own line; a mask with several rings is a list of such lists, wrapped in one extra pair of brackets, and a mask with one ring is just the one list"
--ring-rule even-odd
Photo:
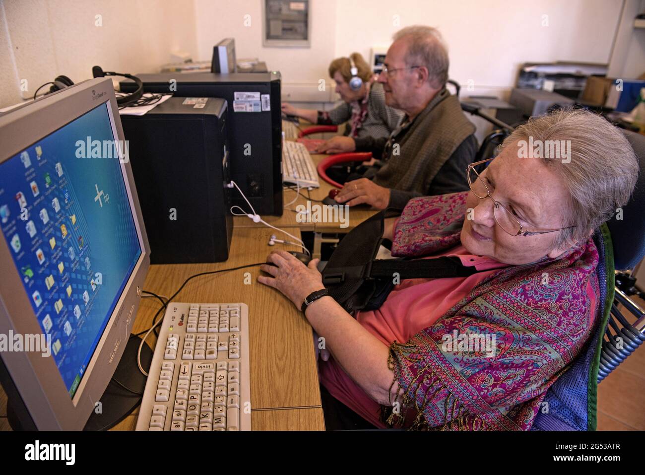
[(274, 265), (263, 264), (260, 268), (270, 277), (258, 276), (257, 281), (277, 288), (298, 309), (306, 296), (324, 288), (323, 276), (316, 268), (320, 259), (312, 259), (308, 265), (304, 265), (286, 250), (274, 250), (266, 261)]

